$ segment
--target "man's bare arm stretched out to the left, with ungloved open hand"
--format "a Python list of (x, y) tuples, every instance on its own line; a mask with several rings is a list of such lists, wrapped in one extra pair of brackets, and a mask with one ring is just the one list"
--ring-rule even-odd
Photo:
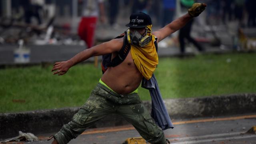
[(92, 56), (100, 56), (104, 54), (110, 54), (112, 52), (117, 52), (120, 50), (123, 44), (123, 39), (114, 39), (110, 40), (108, 42), (104, 42), (102, 44), (99, 44), (97, 46), (94, 46), (92, 48), (88, 48), (78, 54), (76, 54), (73, 58), (70, 60), (64, 61), (64, 62), (56, 62), (52, 68), (53, 74), (63, 75), (66, 74), (68, 69), (75, 64), (82, 62), (84, 60), (87, 60), (88, 58)]

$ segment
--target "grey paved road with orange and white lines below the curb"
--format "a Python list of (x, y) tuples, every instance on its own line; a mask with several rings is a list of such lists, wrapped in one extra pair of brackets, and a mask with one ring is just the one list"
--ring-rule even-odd
[[(172, 144), (256, 144), (256, 134), (244, 134), (256, 125), (256, 114), (173, 120), (174, 129), (165, 130)], [(50, 135), (50, 134), (48, 134)], [(88, 129), (70, 144), (122, 144), (126, 138), (138, 137), (132, 126)], [(41, 141), (25, 144), (50, 144), (46, 135)]]

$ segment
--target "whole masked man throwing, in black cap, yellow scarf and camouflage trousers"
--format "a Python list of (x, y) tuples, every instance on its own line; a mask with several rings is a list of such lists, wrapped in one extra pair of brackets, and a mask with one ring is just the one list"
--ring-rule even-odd
[[(130, 22), (126, 24), (129, 29), (120, 37), (86, 49), (70, 60), (56, 62), (52, 72), (63, 75), (72, 66), (92, 56), (110, 54), (114, 57), (112, 60), (109, 59), (110, 63), (114, 62), (108, 65), (82, 108), (68, 124), (62, 126), (58, 133), (50, 136), (50, 139), (54, 138), (52, 144), (67, 144), (109, 114), (119, 114), (124, 117), (150, 144), (167, 144), (167, 142), (170, 144), (162, 128), (152, 119), (140, 100), (138, 87), (143, 78), (150, 80), (154, 76), (153, 73), (158, 65), (156, 52), (158, 42), (199, 16), (205, 7), (205, 4), (195, 3), (185, 15), (154, 32), (149, 15), (143, 12), (133, 13)], [(120, 54), (120, 50), (123, 54)], [(167, 112), (166, 114), (168, 115)], [(173, 128), (173, 125), (168, 128)]]

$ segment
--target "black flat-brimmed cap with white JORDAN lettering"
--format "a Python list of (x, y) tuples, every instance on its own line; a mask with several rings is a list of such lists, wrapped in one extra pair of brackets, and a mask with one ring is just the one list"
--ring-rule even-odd
[(130, 16), (130, 23), (126, 24), (130, 28), (144, 28), (152, 24), (151, 18), (148, 14), (144, 12), (133, 13)]

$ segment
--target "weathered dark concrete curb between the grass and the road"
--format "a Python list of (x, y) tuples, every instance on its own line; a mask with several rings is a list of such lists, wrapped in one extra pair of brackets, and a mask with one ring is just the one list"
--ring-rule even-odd
[[(232, 94), (204, 98), (178, 98), (164, 100), (171, 118), (196, 118), (203, 116), (222, 116), (256, 112), (256, 94)], [(144, 101), (148, 110), (151, 102)], [(18, 113), (0, 114), (0, 139), (14, 137), (18, 131), (46, 134), (58, 132), (79, 110), (60, 108)], [(121, 126), (128, 124), (118, 115), (109, 115), (96, 122), (91, 128)]]

